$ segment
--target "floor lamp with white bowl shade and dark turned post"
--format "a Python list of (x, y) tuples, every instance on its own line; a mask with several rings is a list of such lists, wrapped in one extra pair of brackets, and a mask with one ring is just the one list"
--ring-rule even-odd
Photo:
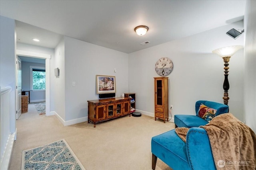
[(244, 46), (242, 45), (234, 45), (234, 46), (229, 46), (229, 47), (222, 47), (220, 49), (216, 49), (214, 51), (212, 51), (212, 53), (216, 53), (218, 54), (220, 57), (222, 57), (223, 61), (224, 61), (224, 83), (223, 83), (223, 89), (224, 89), (224, 104), (228, 105), (228, 89), (229, 89), (229, 82), (228, 82), (228, 62), (229, 59), (232, 55), (234, 55), (234, 53), (236, 53), (236, 51), (238, 51), (239, 49), (244, 48)]

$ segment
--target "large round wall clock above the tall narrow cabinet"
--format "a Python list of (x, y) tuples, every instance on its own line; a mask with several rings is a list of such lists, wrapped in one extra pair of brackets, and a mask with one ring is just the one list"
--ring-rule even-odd
[(156, 73), (159, 76), (167, 76), (172, 72), (172, 68), (173, 68), (172, 61), (167, 57), (163, 57), (159, 59), (156, 62), (156, 66), (155, 66)]

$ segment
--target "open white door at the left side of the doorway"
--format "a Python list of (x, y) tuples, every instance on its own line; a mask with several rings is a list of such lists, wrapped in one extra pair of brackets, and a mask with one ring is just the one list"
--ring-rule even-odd
[(17, 65), (17, 85), (16, 85), (16, 119), (18, 119), (21, 115), (21, 60), (17, 56), (16, 57), (16, 65)]

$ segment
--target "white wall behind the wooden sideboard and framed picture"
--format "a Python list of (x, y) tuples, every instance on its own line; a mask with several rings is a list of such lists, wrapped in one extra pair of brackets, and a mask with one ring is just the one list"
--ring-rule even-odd
[(87, 101), (98, 99), (97, 74), (116, 76), (117, 97), (128, 92), (128, 54), (65, 37), (65, 121), (88, 116)]

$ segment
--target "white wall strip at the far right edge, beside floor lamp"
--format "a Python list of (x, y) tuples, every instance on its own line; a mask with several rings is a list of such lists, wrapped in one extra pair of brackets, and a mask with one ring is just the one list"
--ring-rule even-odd
[(256, 1), (247, 1), (245, 11), (244, 113), (246, 124), (256, 133)]

